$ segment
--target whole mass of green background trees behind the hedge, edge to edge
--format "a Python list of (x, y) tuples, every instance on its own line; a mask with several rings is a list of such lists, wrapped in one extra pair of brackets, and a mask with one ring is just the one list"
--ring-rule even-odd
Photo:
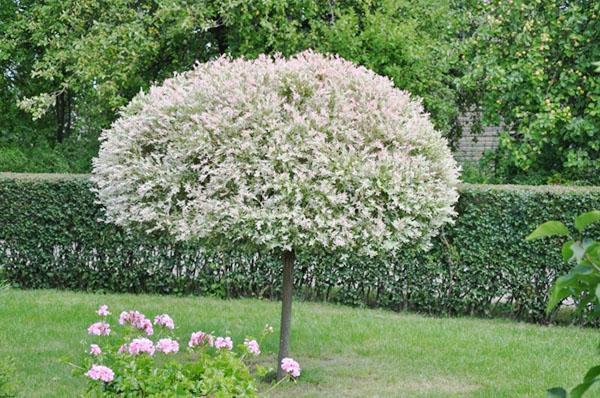
[(500, 150), (477, 166), (490, 170), (486, 181), (600, 183), (600, 75), (592, 65), (600, 60), (599, 7), (592, 0), (0, 0), (0, 170), (87, 172), (100, 130), (140, 89), (223, 53), (313, 48), (423, 98), (451, 143), (465, 110), (503, 123)]

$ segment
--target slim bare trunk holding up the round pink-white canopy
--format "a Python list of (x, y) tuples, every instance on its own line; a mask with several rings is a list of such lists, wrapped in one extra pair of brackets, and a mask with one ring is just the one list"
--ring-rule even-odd
[(281, 360), (287, 358), (290, 352), (290, 327), (292, 323), (292, 290), (294, 287), (293, 251), (283, 253), (283, 289), (281, 291), (281, 326), (279, 332), (279, 357), (277, 358), (277, 380), (285, 377), (281, 369)]

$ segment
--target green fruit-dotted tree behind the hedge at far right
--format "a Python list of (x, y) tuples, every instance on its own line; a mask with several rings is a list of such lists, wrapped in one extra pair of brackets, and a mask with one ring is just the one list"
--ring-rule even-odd
[(600, 175), (600, 2), (479, 2), (465, 42), (464, 100), (502, 124), (497, 171)]

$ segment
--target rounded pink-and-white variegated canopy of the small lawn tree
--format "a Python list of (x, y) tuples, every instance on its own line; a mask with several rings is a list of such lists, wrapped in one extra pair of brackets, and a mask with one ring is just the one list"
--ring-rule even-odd
[(360, 255), (427, 247), (458, 171), (419, 101), (339, 57), (219, 58), (102, 134), (108, 221), (178, 240)]

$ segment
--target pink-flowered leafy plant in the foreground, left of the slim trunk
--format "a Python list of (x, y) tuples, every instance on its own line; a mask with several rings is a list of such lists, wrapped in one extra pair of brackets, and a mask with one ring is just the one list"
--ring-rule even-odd
[[(176, 336), (175, 322), (168, 314), (150, 321), (141, 312), (123, 311), (113, 328), (106, 305), (97, 314), (102, 319), (88, 328), (93, 342), (86, 345), (83, 365), (77, 367), (89, 380), (90, 394), (256, 396), (250, 358), (261, 353), (258, 340), (247, 337), (234, 347), (231, 337), (203, 331), (182, 340)], [(265, 327), (262, 336), (271, 331)], [(299, 376), (297, 363), (282, 363), (284, 366), (290, 378)]]

